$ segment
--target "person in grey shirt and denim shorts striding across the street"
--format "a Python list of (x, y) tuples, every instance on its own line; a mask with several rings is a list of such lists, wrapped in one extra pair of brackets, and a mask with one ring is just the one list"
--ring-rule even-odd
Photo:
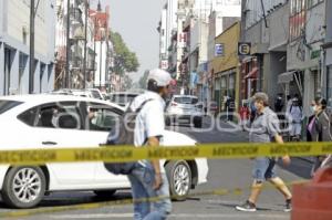
[[(278, 144), (283, 144), (282, 137), (279, 135), (279, 121), (277, 114), (269, 108), (269, 97), (264, 93), (257, 93), (253, 96), (255, 105), (257, 108), (257, 115), (253, 119), (250, 130), (249, 140), (250, 143), (270, 143), (274, 139)], [(290, 164), (290, 157), (282, 157), (283, 164)], [(276, 174), (276, 158), (271, 157), (257, 157), (253, 160), (253, 184), (251, 187), (251, 195), (249, 199), (236, 209), (239, 211), (256, 211), (256, 203), (258, 197), (262, 190), (263, 182), (270, 181), (276, 188), (284, 196), (286, 207), (284, 211), (291, 210), (292, 195), (283, 180)]]

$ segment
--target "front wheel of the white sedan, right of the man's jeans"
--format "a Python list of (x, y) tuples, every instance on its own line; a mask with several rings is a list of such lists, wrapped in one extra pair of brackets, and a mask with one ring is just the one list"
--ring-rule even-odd
[(191, 188), (191, 170), (185, 160), (172, 160), (166, 166), (169, 192), (173, 200), (184, 201)]

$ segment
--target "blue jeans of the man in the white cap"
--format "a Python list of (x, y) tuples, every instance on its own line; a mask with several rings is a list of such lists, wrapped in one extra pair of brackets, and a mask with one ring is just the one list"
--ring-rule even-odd
[[(134, 220), (164, 220), (170, 213), (169, 185), (165, 174), (162, 174), (162, 178), (163, 185), (158, 190), (154, 190), (155, 172), (151, 164), (144, 167), (137, 163), (128, 175), (134, 199)], [(142, 201), (156, 197), (162, 198), (156, 201)]]

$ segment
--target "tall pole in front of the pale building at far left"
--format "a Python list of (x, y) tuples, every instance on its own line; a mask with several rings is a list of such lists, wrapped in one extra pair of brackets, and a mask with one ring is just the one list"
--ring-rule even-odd
[(29, 94), (33, 93), (33, 81), (34, 81), (34, 0), (30, 0)]

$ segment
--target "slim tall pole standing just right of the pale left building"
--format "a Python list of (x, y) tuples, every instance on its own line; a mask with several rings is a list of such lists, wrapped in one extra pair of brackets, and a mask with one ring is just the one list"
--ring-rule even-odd
[(65, 76), (64, 76), (64, 87), (70, 87), (70, 50), (71, 50), (71, 42), (70, 42), (70, 30), (71, 30), (71, 1), (66, 0), (66, 59), (65, 59)]

